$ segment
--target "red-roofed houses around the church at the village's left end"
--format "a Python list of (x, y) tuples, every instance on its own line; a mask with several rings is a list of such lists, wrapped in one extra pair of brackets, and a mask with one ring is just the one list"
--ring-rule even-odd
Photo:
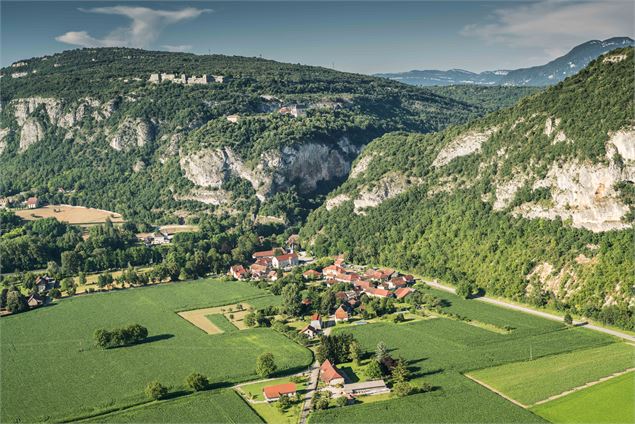
[(254, 252), (251, 257), (255, 261), (249, 266), (249, 270), (242, 265), (233, 265), (229, 268), (229, 274), (237, 280), (246, 280), (251, 277), (275, 281), (278, 278), (277, 270), (288, 270), (300, 263), (297, 254), (282, 248)]

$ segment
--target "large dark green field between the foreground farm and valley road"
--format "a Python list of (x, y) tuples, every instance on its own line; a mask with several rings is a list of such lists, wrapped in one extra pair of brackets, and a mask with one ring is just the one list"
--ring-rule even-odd
[[(460, 301), (443, 292), (453, 312), (481, 322), (514, 327), (499, 334), (462, 321), (447, 318), (405, 324), (372, 323), (335, 331), (352, 333), (368, 355), (379, 341), (391, 355), (403, 357), (412, 382), (427, 382), (435, 389), (404, 398), (359, 404), (320, 411), (310, 416), (311, 423), (384, 422), (545, 422), (531, 411), (509, 402), (463, 374), (511, 362), (545, 357), (578, 349), (614, 343), (614, 339), (582, 328), (567, 328), (520, 312), (480, 302)], [(399, 411), (399, 413), (395, 413)]]

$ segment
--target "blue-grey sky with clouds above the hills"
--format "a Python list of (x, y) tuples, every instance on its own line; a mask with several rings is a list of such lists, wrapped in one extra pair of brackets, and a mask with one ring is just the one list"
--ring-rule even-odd
[(0, 1), (0, 62), (79, 47), (262, 56), (358, 73), (540, 65), (634, 36), (632, 0)]

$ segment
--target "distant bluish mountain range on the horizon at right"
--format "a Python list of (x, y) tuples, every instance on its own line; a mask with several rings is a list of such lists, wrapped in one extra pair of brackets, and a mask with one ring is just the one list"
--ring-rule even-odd
[(414, 70), (376, 74), (376, 76), (401, 81), (406, 84), (424, 86), (457, 84), (545, 86), (556, 84), (566, 77), (578, 73), (593, 59), (610, 50), (632, 45), (633, 39), (629, 37), (615, 37), (604, 41), (587, 41), (546, 65), (515, 70), (484, 71), (481, 73), (463, 69), (450, 69), (449, 71)]

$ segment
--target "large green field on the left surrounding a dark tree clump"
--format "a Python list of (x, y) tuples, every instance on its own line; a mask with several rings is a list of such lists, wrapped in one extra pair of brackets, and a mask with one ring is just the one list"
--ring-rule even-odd
[[(248, 283), (198, 280), (79, 296), (2, 318), (0, 421), (90, 416), (144, 401), (150, 381), (180, 390), (192, 372), (215, 386), (248, 381), (257, 378), (255, 361), (263, 352), (273, 353), (281, 372), (309, 365), (306, 348), (271, 329), (210, 336), (176, 314), (237, 302), (264, 307), (279, 298)], [(130, 323), (148, 328), (147, 342), (94, 346), (96, 329)]]

